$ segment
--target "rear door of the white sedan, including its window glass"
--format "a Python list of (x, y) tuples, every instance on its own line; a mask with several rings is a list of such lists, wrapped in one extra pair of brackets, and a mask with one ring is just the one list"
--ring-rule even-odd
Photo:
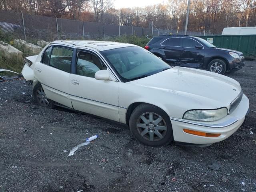
[(68, 95), (72, 54), (73, 48), (53, 45), (44, 51), (41, 61), (34, 66), (35, 77), (46, 96), (69, 108), (72, 108)]

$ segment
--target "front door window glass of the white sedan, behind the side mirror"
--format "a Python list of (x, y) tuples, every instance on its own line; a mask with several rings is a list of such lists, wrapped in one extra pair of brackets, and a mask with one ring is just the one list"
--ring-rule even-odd
[(100, 59), (88, 52), (79, 52), (76, 62), (76, 74), (93, 77), (97, 71), (106, 69)]

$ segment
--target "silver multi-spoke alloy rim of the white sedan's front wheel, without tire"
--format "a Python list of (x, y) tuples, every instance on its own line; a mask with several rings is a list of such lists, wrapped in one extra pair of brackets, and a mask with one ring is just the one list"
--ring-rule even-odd
[(159, 141), (166, 135), (167, 125), (160, 115), (148, 112), (138, 118), (137, 130), (144, 139)]

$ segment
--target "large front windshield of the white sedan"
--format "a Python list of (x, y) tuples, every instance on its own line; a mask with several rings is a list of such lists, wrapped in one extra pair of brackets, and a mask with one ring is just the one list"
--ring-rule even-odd
[(151, 52), (138, 47), (123, 47), (102, 51), (123, 82), (144, 78), (171, 68)]

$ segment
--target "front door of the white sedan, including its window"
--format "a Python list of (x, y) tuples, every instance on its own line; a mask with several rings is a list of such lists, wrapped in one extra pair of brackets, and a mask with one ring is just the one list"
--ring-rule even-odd
[(94, 78), (107, 68), (93, 52), (78, 50), (76, 55), (76, 73), (70, 74), (68, 83), (74, 109), (119, 121), (118, 82)]

